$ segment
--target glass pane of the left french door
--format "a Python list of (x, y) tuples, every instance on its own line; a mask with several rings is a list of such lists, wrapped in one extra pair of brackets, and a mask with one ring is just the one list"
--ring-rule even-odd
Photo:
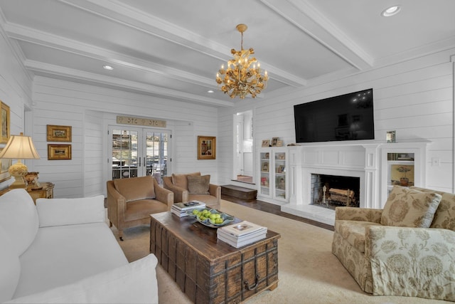
[(112, 179), (137, 177), (137, 131), (112, 130)]

